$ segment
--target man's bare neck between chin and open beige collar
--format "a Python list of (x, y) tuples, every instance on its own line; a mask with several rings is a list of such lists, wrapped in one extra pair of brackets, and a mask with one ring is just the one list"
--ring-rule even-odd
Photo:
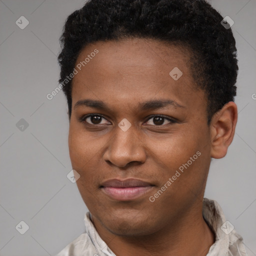
[(111, 233), (96, 219), (93, 223), (99, 236), (116, 254), (122, 256), (148, 255), (148, 256), (205, 256), (209, 247), (214, 243), (215, 235), (206, 224), (203, 216), (188, 214), (168, 221), (164, 228), (143, 236), (119, 236)]

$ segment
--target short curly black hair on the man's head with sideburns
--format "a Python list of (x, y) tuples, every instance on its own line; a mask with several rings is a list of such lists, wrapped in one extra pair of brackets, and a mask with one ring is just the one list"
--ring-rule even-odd
[(207, 97), (207, 123), (236, 95), (237, 58), (231, 28), (206, 0), (89, 0), (71, 13), (60, 37), (59, 83), (71, 116), (72, 73), (89, 43), (122, 38), (151, 38), (189, 49), (196, 86)]

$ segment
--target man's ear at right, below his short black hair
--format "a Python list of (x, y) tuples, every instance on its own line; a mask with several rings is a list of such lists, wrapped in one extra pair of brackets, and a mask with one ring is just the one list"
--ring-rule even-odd
[(237, 122), (237, 106), (233, 101), (226, 103), (211, 118), (211, 157), (222, 158), (233, 140)]

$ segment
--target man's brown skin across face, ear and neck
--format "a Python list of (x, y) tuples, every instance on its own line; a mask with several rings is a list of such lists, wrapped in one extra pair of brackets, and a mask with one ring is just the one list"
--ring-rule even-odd
[[(221, 158), (234, 135), (237, 108), (228, 102), (207, 125), (207, 100), (190, 72), (189, 51), (153, 39), (126, 38), (87, 45), (76, 63), (98, 53), (72, 81), (69, 154), (79, 192), (100, 237), (116, 254), (206, 255), (214, 234), (202, 217), (211, 157)], [(182, 71), (170, 77), (174, 67)], [(75, 104), (103, 101), (109, 109)], [(177, 104), (142, 110), (139, 103), (171, 99)], [(99, 122), (86, 114), (101, 114)], [(153, 116), (164, 115), (175, 119)], [(123, 131), (118, 123), (131, 126)], [(86, 122), (87, 121), (87, 122)], [(154, 202), (154, 195), (197, 151), (201, 155)], [(117, 201), (100, 185), (111, 178), (138, 178), (154, 186), (142, 196)]]

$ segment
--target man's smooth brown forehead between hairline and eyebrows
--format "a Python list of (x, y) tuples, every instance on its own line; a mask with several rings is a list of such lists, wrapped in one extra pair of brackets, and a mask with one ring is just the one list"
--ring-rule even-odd
[(72, 104), (88, 97), (123, 104), (163, 97), (182, 105), (204, 100), (190, 65), (189, 50), (181, 45), (145, 38), (95, 42), (76, 60)]

